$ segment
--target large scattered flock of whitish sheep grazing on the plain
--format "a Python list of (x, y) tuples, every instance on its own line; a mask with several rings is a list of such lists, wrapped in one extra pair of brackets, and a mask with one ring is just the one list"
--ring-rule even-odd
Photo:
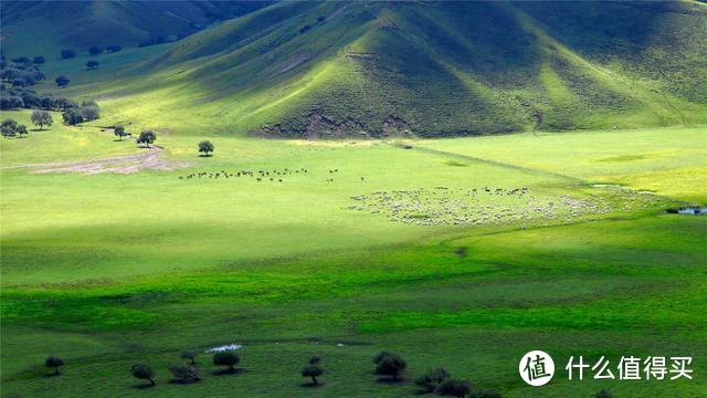
[(351, 197), (346, 209), (379, 213), (390, 221), (416, 226), (507, 224), (547, 226), (573, 222), (592, 214), (657, 208), (668, 201), (650, 192), (618, 186), (593, 187), (585, 197), (540, 197), (521, 188), (418, 188), (376, 191)]

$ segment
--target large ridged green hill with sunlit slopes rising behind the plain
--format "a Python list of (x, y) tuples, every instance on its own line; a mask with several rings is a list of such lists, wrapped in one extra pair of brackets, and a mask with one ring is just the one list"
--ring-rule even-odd
[(699, 2), (284, 2), (75, 87), (120, 117), (276, 137), (707, 123)]

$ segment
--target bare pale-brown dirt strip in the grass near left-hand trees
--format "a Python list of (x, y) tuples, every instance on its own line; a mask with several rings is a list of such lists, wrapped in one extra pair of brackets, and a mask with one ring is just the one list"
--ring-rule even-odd
[(92, 175), (101, 172), (133, 174), (144, 169), (173, 170), (189, 166), (186, 161), (162, 160), (159, 153), (160, 148), (152, 147), (143, 154), (136, 155), (122, 155), (105, 159), (81, 161), (52, 161), (18, 167), (32, 168), (35, 174), (83, 172)]

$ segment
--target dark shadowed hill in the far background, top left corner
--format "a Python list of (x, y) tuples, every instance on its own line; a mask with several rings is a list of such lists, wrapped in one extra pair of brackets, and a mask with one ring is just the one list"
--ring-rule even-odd
[(2, 1), (2, 46), (9, 55), (55, 56), (60, 48), (130, 45), (190, 34), (267, 2), (235, 1)]

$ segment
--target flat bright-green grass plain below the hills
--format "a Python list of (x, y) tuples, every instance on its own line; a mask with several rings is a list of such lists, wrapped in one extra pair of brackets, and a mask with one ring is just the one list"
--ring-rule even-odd
[[(560, 374), (532, 389), (517, 375), (518, 358), (538, 347), (559, 369), (570, 355), (690, 355), (695, 375), (707, 370), (707, 220), (663, 211), (704, 203), (704, 185), (689, 184), (707, 170), (696, 144), (707, 139), (704, 128), (306, 142), (179, 125), (159, 129), (157, 144), (163, 161), (183, 168), (22, 167), (147, 150), (115, 142), (98, 127), (106, 121), (0, 142), (3, 395), (398, 397), (415, 395), (412, 380), (434, 366), (506, 397), (589, 397), (601, 388), (698, 397), (707, 388), (699, 377), (577, 383)], [(213, 157), (197, 156), (203, 138), (214, 142)], [(285, 168), (308, 172), (282, 182), (184, 179)], [(655, 206), (626, 208), (643, 196), (594, 184), (652, 190)], [(349, 209), (351, 197), (376, 191), (485, 186), (526, 187), (537, 200), (598, 197), (610, 210), (424, 226)], [(451, 195), (442, 203), (457, 199)], [(211, 375), (203, 354), (203, 381), (168, 383), (167, 366), (182, 349), (231, 343), (244, 345), (244, 373)], [(408, 360), (402, 383), (371, 374), (381, 349)], [(50, 354), (67, 363), (60, 377), (42, 366)], [(298, 371), (315, 354), (327, 373), (313, 389)], [(136, 362), (152, 364), (157, 388), (130, 377)]]

